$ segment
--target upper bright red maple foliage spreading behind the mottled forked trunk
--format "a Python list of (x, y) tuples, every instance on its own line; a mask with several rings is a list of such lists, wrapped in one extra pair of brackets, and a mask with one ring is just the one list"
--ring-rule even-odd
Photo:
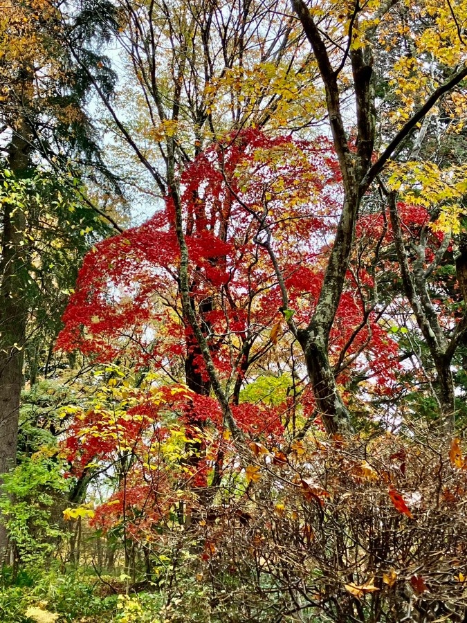
[[(203, 320), (212, 334), (224, 336), (212, 338), (221, 375), (234, 372), (229, 339), (237, 335), (244, 340), (247, 334), (251, 339), (270, 329), (282, 305), (271, 262), (257, 240), (262, 228), (258, 215), (266, 210), (291, 307), (297, 322), (307, 323), (322, 283), (323, 241), (332, 235), (338, 217), (338, 181), (327, 139), (309, 143), (290, 136), (271, 138), (257, 129), (212, 145), (183, 172), (192, 297), (199, 304), (212, 300)], [(181, 318), (173, 223), (172, 201), (167, 199), (165, 210), (104, 240), (86, 256), (58, 348), (79, 348), (98, 362), (128, 354), (156, 367), (185, 356), (192, 337)], [(331, 336), (334, 356), (362, 314), (349, 280)], [(396, 346), (376, 321), (370, 320), (349, 354), (363, 343), (372, 361), (384, 360), (381, 370), (387, 371)], [(203, 371), (200, 356), (195, 364)]]

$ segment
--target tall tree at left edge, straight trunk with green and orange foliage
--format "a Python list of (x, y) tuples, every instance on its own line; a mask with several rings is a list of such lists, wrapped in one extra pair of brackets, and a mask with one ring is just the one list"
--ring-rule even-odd
[[(82, 166), (92, 163), (94, 179), (104, 170), (89, 119), (80, 107), (89, 82), (78, 77), (60, 44), (55, 10), (42, 0), (3, 4), (0, 114), (6, 156), (1, 163), (0, 475), (15, 462), (24, 352), (34, 333), (30, 318), (35, 316), (36, 332), (44, 329), (45, 310), (53, 304), (50, 293), (55, 304), (60, 304), (60, 297), (63, 304), (61, 290), (73, 285), (73, 271), (57, 270), (60, 264), (62, 269), (69, 267), (77, 257), (67, 247), (84, 249), (84, 239), (78, 242), (77, 235), (83, 227), (83, 233), (89, 233), (90, 222), (96, 230), (103, 229), (90, 210), (78, 206), (82, 186), (70, 158), (72, 154), (81, 158)], [(91, 21), (86, 33), (79, 26), (77, 40), (84, 42), (95, 34)], [(109, 91), (112, 74), (106, 68), (100, 81)], [(47, 261), (51, 263), (46, 265)]]

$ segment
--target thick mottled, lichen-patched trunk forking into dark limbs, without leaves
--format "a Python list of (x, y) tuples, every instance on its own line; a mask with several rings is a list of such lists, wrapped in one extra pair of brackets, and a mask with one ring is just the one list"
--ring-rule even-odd
[[(460, 71), (452, 75), (449, 80), (435, 89), (432, 95), (425, 100), (425, 103), (414, 112), (405, 125), (396, 133), (376, 162), (372, 163), (376, 127), (373, 49), (377, 42), (374, 40), (374, 37), (377, 30), (376, 24), (392, 8), (393, 4), (392, 0), (382, 2), (376, 11), (378, 20), (375, 20), (375, 25), (365, 30), (363, 45), (358, 47), (349, 45), (349, 48), (341, 57), (340, 64), (338, 62), (333, 64), (333, 57), (329, 55), (329, 43), (332, 42), (332, 39), (329, 37), (324, 38), (323, 32), (320, 29), (322, 24), (318, 26), (315, 22), (315, 16), (310, 11), (305, 0), (292, 0), (293, 10), (295, 10), (298, 19), (300, 19), (306, 38), (311, 44), (322, 78), (333, 145), (342, 174), (342, 189), (345, 195), (342, 216), (331, 249), (331, 256), (325, 272), (320, 298), (311, 323), (307, 329), (299, 332), (297, 327), (295, 327), (293, 318), (287, 320), (290, 329), (297, 336), (304, 349), (306, 366), (313, 385), (318, 411), (320, 411), (324, 426), (326, 426), (329, 433), (335, 432), (336, 428), (349, 428), (349, 413), (338, 395), (336, 381), (329, 363), (328, 341), (329, 332), (338, 309), (340, 295), (342, 294), (345, 275), (349, 267), (360, 201), (369, 189), (369, 186), (378, 174), (381, 173), (387, 161), (392, 157), (397, 147), (410, 136), (410, 133), (418, 123), (423, 122), (423, 118), (436, 105), (439, 98), (444, 93), (448, 93), (467, 76), (467, 67), (464, 66)], [(349, 20), (349, 30), (347, 31), (347, 37), (351, 41), (353, 37), (351, 29), (353, 24), (358, 26), (359, 14), (364, 8), (360, 6), (360, 3), (356, 2), (349, 3), (349, 9), (349, 16), (352, 10), (354, 10), (354, 14)], [(342, 48), (340, 50), (342, 51)], [(334, 51), (337, 51), (336, 48), (334, 48)], [(344, 93), (338, 82), (338, 75), (345, 68), (348, 60), (351, 65), (352, 90), (356, 105), (357, 136), (354, 154), (351, 153), (349, 148), (349, 140), (340, 109), (340, 99)], [(449, 355), (452, 359), (451, 351), (453, 347), (455, 347), (454, 342), (452, 342), (452, 348), (448, 347), (446, 350), (446, 359)], [(449, 374), (445, 376), (446, 381), (448, 381)]]

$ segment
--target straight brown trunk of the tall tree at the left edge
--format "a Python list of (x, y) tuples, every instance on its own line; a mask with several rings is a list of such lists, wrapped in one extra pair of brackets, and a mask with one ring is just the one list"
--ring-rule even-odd
[[(30, 128), (19, 121), (9, 147), (8, 164), (15, 177), (30, 165)], [(15, 464), (19, 399), (23, 387), (23, 347), (26, 338), (26, 214), (18, 206), (4, 206), (0, 260), (0, 482)], [(0, 553), (7, 534), (0, 525)]]

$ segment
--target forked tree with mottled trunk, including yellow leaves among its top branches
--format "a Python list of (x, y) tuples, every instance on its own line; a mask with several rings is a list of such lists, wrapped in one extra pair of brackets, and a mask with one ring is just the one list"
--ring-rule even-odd
[[(455, 67), (448, 80), (442, 82), (413, 114), (410, 108), (404, 111), (402, 114), (404, 122), (399, 132), (387, 140), (387, 143), (385, 141), (387, 146), (378, 159), (372, 161), (377, 121), (373, 47), (379, 32), (384, 29), (385, 21), (389, 21), (394, 26), (393, 5), (396, 6), (397, 3), (383, 2), (378, 3), (372, 10), (367, 10), (356, 1), (351, 12), (346, 12), (340, 6), (332, 10), (330, 8), (327, 23), (323, 29), (322, 26), (320, 28), (317, 26), (317, 19), (323, 15), (322, 7), (316, 12), (317, 17), (315, 17), (315, 9), (310, 10), (302, 0), (294, 3), (295, 11), (309, 39), (324, 83), (333, 143), (342, 173), (344, 191), (340, 223), (315, 314), (309, 327), (304, 331), (297, 332), (296, 327), (293, 327), (293, 321), (289, 323), (291, 330), (297, 334), (304, 348), (310, 379), (329, 431), (337, 431), (348, 421), (347, 409), (338, 395), (329, 366), (327, 345), (349, 266), (360, 204), (372, 182), (381, 174), (387, 161), (415, 129), (417, 123), (425, 118), (439, 98), (454, 89), (467, 76), (466, 67), (461, 67), (461, 69)], [(429, 18), (430, 6), (428, 4), (423, 7), (423, 11), (426, 11)], [(322, 32), (328, 33), (329, 39), (324, 39)], [(446, 49), (446, 42), (437, 37), (430, 19), (425, 33), (421, 35), (422, 38), (427, 33), (432, 37), (437, 53), (442, 55)], [(455, 35), (452, 28), (450, 34)], [(457, 44), (457, 35), (455, 41)], [(458, 45), (456, 48), (458, 55), (455, 56), (454, 64), (460, 60), (459, 55), (461, 55)], [(347, 68), (349, 73), (347, 73)], [(350, 89), (356, 106), (355, 153), (351, 151), (341, 112), (340, 100), (343, 87), (340, 87), (338, 80), (344, 71), (347, 79), (350, 80)], [(423, 73), (423, 69), (421, 72)], [(345, 89), (347, 90), (347, 87)], [(414, 105), (415, 102), (412, 101), (412, 108)], [(452, 413), (452, 408), (446, 411), (445, 406), (443, 415), (450, 417), (450, 413)]]

